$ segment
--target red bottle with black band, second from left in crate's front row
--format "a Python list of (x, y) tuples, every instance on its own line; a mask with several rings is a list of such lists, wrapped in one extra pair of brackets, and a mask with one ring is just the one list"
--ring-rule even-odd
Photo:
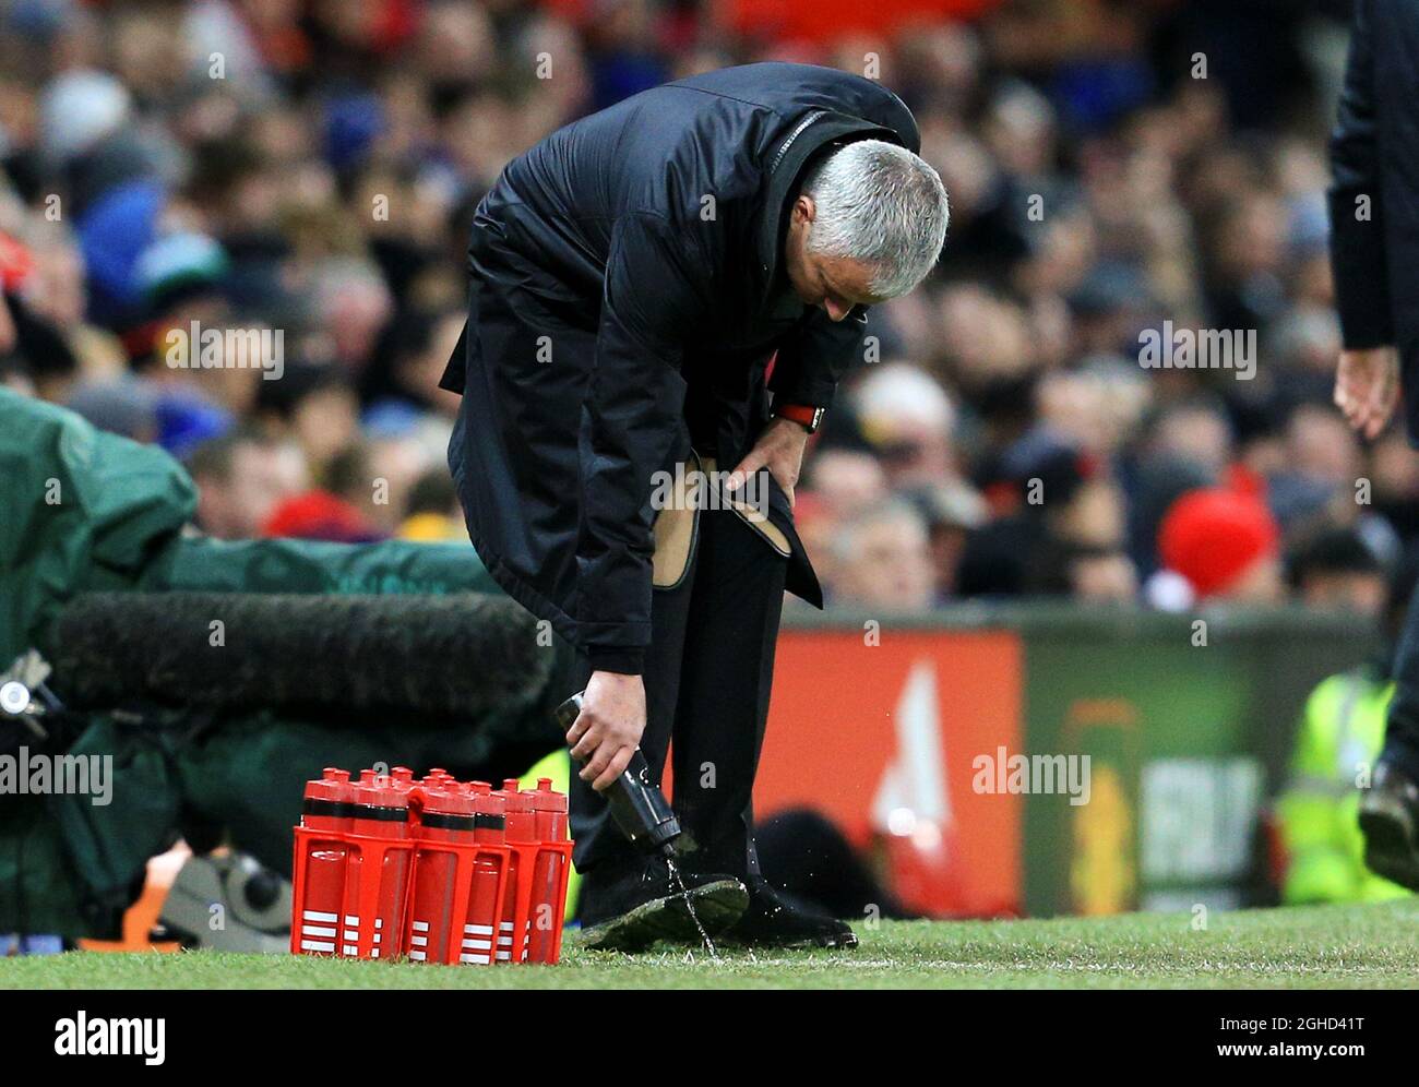
[(345, 878), (341, 954), (393, 958), (403, 952), (412, 827), (410, 792), (365, 771), (352, 786), (350, 856)]

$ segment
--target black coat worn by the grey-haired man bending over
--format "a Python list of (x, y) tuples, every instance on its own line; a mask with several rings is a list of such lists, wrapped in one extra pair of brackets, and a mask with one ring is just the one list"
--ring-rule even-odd
[[(824, 407), (861, 355), (866, 314), (805, 307), (782, 253), (813, 156), (864, 138), (920, 148), (868, 79), (727, 68), (552, 133), (478, 207), (450, 465), (488, 569), (593, 664), (639, 671), (650, 640), (654, 474), (691, 443), (734, 467), (775, 353), (775, 396)], [(771, 517), (795, 541), (789, 589), (822, 603), (776, 487)]]

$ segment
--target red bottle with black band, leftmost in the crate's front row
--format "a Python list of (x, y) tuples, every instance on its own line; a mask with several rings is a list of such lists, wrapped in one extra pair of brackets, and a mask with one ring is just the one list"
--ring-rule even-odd
[(321, 778), (305, 783), (292, 864), (292, 955), (336, 954), (349, 861), (346, 834), (352, 798), (349, 771), (326, 766)]

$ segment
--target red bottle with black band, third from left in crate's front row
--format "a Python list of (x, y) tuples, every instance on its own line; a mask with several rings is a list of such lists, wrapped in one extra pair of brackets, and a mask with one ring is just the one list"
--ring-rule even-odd
[(414, 873), (409, 894), (409, 958), (413, 962), (450, 962), (454, 918), (467, 908), (460, 893), (468, 868), (463, 856), (474, 844), (475, 799), (465, 789), (423, 788), (423, 812), (414, 847)]

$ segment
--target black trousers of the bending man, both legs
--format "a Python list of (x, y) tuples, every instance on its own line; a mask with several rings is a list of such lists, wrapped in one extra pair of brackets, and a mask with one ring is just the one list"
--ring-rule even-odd
[[(753, 846), (753, 778), (763, 746), (773, 647), (788, 559), (731, 509), (701, 509), (690, 568), (675, 587), (656, 589), (646, 654), (646, 731), (640, 748), (653, 780), (674, 758), (671, 803), (694, 851), (692, 871), (759, 874)], [(578, 688), (590, 666), (578, 661)], [(646, 859), (610, 820), (606, 803), (573, 775), (575, 863), (587, 897), (640, 878)]]

